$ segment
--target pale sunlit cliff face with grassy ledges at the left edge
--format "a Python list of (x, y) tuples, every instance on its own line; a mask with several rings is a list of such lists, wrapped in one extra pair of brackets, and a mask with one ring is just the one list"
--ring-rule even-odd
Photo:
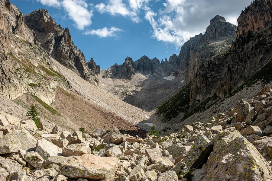
[(48, 52), (37, 44), (36, 33), (24, 23), (19, 9), (8, 0), (0, 1), (0, 94), (14, 100), (29, 93), (50, 104), (57, 86), (69, 90)]

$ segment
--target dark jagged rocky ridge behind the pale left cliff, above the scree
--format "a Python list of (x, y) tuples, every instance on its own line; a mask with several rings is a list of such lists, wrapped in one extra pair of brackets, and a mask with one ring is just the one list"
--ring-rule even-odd
[[(83, 52), (77, 49), (71, 39), (68, 28), (63, 30), (57, 25), (45, 9), (24, 14), (24, 21), (33, 30), (40, 41), (40, 46), (67, 68), (72, 69), (86, 81), (97, 85), (96, 70), (87, 65)], [(94, 70), (94, 71), (93, 71)]]

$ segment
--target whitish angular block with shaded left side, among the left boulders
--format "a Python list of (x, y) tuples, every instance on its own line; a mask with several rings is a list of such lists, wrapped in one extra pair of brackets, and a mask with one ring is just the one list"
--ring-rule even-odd
[(36, 152), (46, 160), (51, 156), (61, 156), (61, 151), (56, 145), (52, 144), (50, 141), (45, 139), (37, 140)]

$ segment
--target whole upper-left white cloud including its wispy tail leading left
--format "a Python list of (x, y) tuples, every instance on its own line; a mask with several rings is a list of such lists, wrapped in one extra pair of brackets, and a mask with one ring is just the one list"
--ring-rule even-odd
[(75, 26), (83, 30), (85, 27), (92, 24), (92, 10), (88, 9), (88, 4), (84, 0), (37, 0), (46, 6), (62, 7), (68, 17), (75, 22)]

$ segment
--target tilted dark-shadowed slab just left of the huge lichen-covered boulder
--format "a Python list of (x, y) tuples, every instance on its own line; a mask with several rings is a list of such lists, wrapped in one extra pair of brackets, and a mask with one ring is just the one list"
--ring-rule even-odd
[[(208, 147), (209, 142), (210, 140), (204, 135), (199, 135), (196, 138), (192, 148), (182, 160), (188, 168), (190, 168), (196, 161), (198, 162), (199, 160), (203, 160), (205, 162), (205, 158), (208, 159), (210, 154), (208, 149), (211, 150), (210, 147)], [(204, 156), (205, 158), (203, 158)]]

